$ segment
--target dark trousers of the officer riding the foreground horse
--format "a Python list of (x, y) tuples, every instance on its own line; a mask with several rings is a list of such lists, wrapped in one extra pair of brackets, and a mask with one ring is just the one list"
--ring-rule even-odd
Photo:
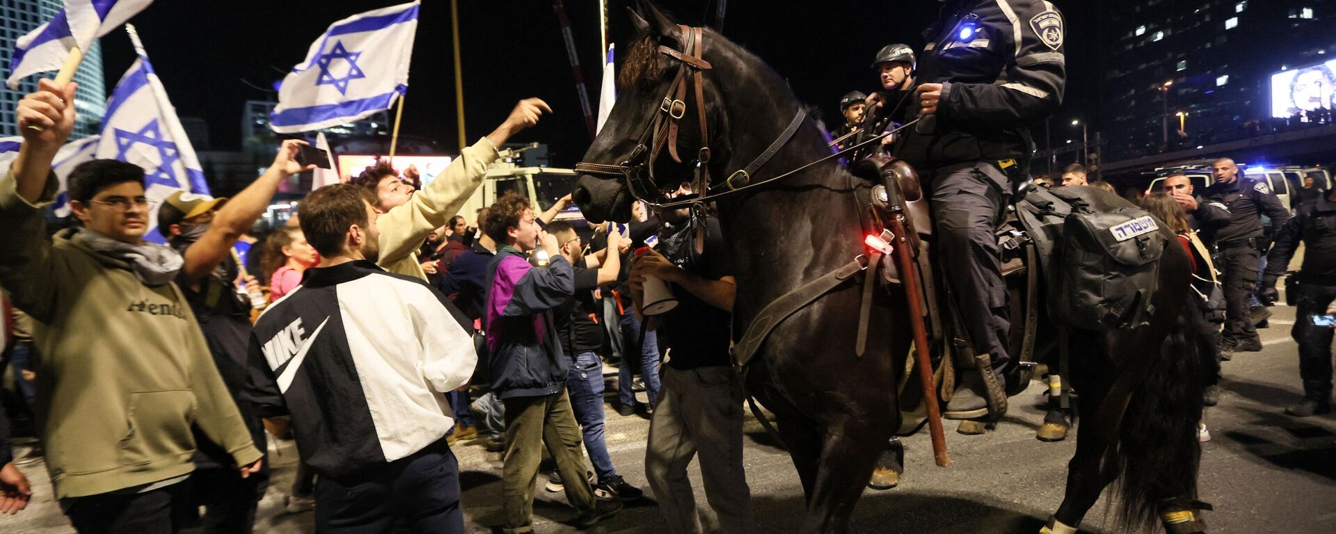
[(993, 368), (1003, 368), (1011, 323), (997, 228), (1010, 198), (1010, 182), (985, 162), (941, 168), (929, 176), (937, 250), (965, 331), (977, 354), (987, 352)]

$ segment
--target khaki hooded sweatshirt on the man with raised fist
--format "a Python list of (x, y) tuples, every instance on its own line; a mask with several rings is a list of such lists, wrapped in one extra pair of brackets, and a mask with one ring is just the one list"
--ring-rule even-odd
[(235, 465), (261, 459), (176, 284), (140, 282), (128, 263), (79, 239), (88, 230), (47, 239), (53, 174), (37, 204), (15, 187), (12, 174), (0, 179), (0, 286), (35, 320), (37, 415), (55, 497), (191, 473), (191, 426)]

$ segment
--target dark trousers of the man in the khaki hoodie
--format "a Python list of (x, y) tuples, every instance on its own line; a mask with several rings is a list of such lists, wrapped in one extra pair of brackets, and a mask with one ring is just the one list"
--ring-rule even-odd
[(79, 534), (175, 534), (175, 486), (146, 493), (72, 497), (60, 505)]

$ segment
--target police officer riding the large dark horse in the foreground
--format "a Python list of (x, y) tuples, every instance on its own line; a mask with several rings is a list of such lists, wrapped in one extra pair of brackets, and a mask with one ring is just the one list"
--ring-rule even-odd
[(898, 150), (933, 192), (941, 264), (965, 330), (958, 335), (993, 371), (966, 372), (947, 418), (1001, 417), (1001, 372), (1014, 366), (994, 232), (1014, 183), (1027, 176), (1029, 127), (1062, 104), (1063, 32), (1062, 13), (1042, 0), (945, 0), (925, 32), (907, 105), (922, 121)]

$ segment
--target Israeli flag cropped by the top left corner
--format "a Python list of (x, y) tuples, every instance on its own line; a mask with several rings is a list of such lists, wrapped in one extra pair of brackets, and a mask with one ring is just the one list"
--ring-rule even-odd
[(87, 52), (94, 39), (111, 33), (152, 0), (65, 0), (65, 7), (37, 29), (15, 41), (5, 84), (17, 89), (24, 77), (59, 71), (79, 47)]

